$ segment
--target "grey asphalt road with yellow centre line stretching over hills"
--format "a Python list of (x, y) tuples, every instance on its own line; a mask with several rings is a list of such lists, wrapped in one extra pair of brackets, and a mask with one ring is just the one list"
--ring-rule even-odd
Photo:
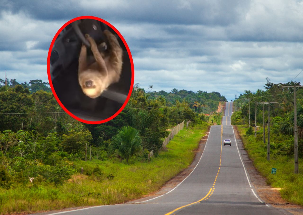
[[(228, 102), (222, 125), (211, 126), (195, 169), (166, 194), (48, 214), (289, 214), (266, 205), (256, 194), (235, 141), (231, 114), (232, 103)], [(231, 139), (231, 146), (222, 146), (222, 139)]]

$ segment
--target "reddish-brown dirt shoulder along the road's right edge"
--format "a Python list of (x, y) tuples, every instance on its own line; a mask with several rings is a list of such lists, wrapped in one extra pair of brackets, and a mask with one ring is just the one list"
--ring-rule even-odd
[(293, 214), (303, 214), (302, 206), (289, 203), (286, 200), (282, 199), (279, 190), (272, 188), (266, 183), (266, 178), (261, 176), (261, 174), (255, 168), (252, 160), (248, 157), (248, 154), (243, 147), (242, 139), (237, 130), (237, 126), (233, 127), (238, 147), (245, 163), (245, 167), (249, 173), (251, 183), (255, 186), (259, 197), (261, 197), (262, 200), (264, 200), (268, 204), (271, 204), (271, 206), (275, 208), (281, 208)]

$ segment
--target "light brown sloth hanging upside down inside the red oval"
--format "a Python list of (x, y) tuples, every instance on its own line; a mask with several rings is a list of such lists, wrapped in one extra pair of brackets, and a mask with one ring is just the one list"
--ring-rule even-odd
[[(109, 53), (99, 52), (95, 40), (85, 35), (91, 44), (95, 62), (88, 65), (86, 46), (82, 44), (79, 55), (78, 80), (84, 94), (92, 99), (97, 98), (112, 83), (119, 81), (122, 70), (122, 48), (115, 35), (105, 30), (108, 39)], [(101, 44), (104, 45), (104, 44)]]

